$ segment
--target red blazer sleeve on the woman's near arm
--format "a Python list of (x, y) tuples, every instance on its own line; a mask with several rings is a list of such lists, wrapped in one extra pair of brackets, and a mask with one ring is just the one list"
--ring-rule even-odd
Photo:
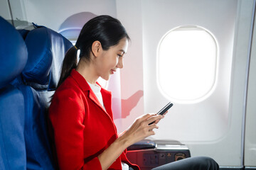
[(97, 157), (84, 161), (85, 103), (72, 89), (55, 94), (49, 108), (60, 169), (99, 169)]

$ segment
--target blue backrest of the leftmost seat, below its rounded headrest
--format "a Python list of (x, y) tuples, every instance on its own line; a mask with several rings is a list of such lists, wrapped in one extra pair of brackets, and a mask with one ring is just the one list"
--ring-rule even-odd
[(0, 90), (0, 169), (26, 169), (24, 110), (21, 91)]

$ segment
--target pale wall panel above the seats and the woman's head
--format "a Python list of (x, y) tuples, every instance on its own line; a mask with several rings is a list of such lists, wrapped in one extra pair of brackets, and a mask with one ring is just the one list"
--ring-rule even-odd
[(117, 16), (114, 0), (27, 0), (21, 1), (21, 3), (26, 8), (27, 21), (47, 26), (57, 32), (65, 19), (76, 13), (90, 11), (95, 13), (95, 15), (107, 14), (113, 17)]

